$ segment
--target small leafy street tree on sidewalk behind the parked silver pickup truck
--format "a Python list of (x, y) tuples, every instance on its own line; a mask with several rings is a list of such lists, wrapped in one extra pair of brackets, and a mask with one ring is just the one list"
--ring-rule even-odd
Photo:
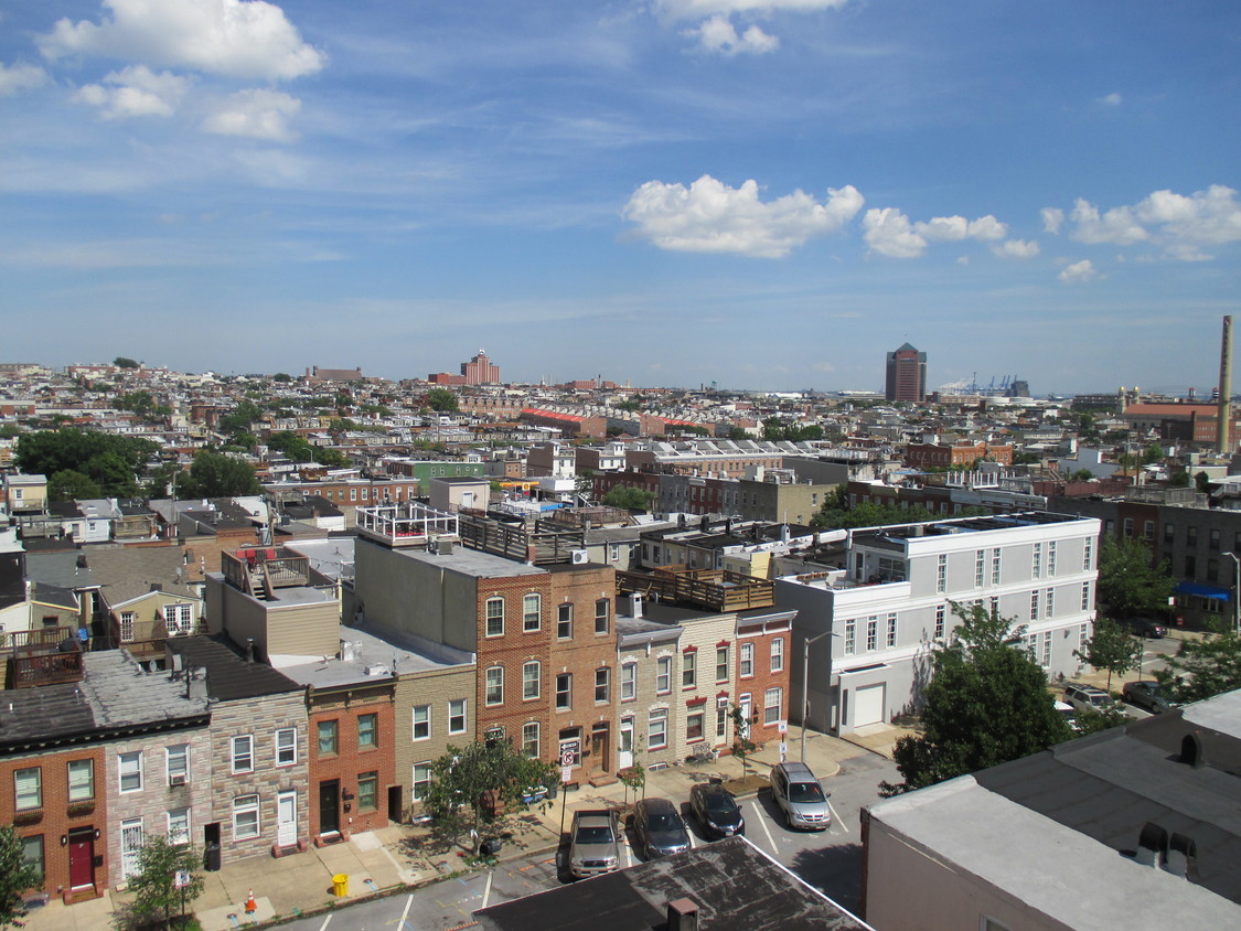
[(551, 763), (514, 750), (508, 737), (477, 740), (464, 747), (449, 746), (431, 765), (426, 806), (436, 823), (453, 837), (467, 825), (462, 808), (469, 808), (477, 834), (483, 819), (498, 807), (493, 801), (506, 808), (520, 807), (527, 788), (550, 786), (558, 776)]

